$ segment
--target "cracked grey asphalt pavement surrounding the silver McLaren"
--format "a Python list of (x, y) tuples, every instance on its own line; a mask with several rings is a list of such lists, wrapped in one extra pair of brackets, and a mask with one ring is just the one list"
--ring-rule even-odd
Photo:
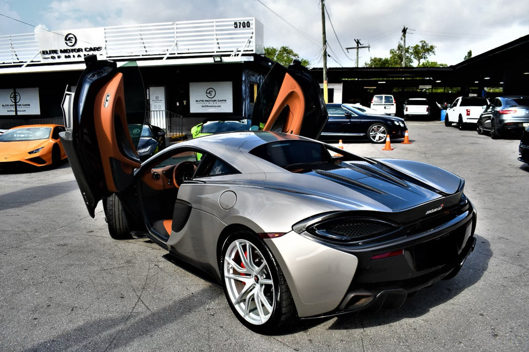
[[(466, 179), (477, 245), (454, 279), (403, 307), (300, 323), (262, 336), (220, 288), (165, 261), (147, 239), (113, 240), (68, 163), (0, 174), (0, 351), (527, 351), (529, 166), (519, 140), (408, 122), (412, 144), (344, 149), (432, 163)], [(317, 277), (314, 278), (317, 280)]]

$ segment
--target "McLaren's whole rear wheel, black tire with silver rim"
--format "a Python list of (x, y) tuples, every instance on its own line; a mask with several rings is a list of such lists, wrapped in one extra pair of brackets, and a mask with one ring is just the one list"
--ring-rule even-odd
[[(248, 253), (251, 261), (244, 263)], [(298, 318), (287, 281), (259, 237), (248, 230), (238, 230), (227, 237), (219, 265), (226, 300), (245, 327), (259, 334), (275, 334), (294, 326)], [(264, 297), (256, 296), (258, 292)], [(253, 309), (247, 309), (247, 303)]]

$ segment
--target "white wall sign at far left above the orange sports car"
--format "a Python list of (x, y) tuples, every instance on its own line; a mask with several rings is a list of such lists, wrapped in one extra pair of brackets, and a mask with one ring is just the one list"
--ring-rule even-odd
[(0, 89), (0, 115), (15, 115), (15, 112), (16, 115), (40, 115), (39, 88)]

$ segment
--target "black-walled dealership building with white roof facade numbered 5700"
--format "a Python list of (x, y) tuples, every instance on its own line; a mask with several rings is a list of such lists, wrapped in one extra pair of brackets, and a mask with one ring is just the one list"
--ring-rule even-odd
[(135, 62), (146, 119), (180, 134), (205, 118), (251, 118), (271, 67), (255, 18), (183, 21), (0, 36), (0, 128), (61, 123), (84, 57)]

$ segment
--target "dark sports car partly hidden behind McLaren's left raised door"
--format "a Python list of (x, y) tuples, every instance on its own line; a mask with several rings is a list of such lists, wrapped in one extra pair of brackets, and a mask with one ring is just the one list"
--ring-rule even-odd
[(158, 126), (130, 124), (129, 133), (140, 160), (147, 160), (166, 147), (166, 133)]

